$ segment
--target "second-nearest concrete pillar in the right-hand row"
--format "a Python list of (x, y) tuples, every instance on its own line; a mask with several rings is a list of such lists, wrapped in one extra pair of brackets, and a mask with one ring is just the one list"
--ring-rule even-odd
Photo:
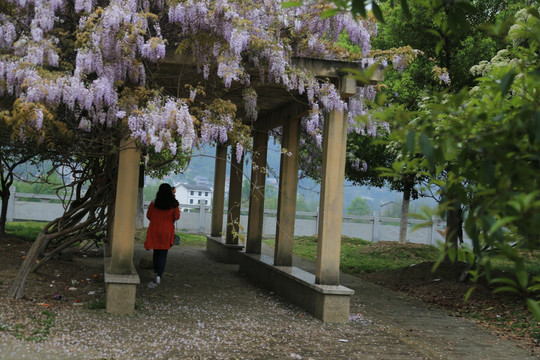
[(281, 163), (279, 171), (278, 212), (274, 265), (292, 266), (296, 192), (298, 188), (298, 149), (300, 119), (290, 119), (283, 124)]

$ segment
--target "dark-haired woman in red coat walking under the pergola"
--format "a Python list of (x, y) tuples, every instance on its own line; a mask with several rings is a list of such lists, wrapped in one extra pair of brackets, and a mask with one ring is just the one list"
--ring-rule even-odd
[(174, 222), (180, 219), (178, 205), (171, 185), (161, 184), (156, 199), (148, 206), (146, 217), (150, 220), (150, 225), (144, 248), (154, 250), (153, 263), (156, 272), (155, 280), (149, 283), (148, 287), (155, 287), (161, 282), (167, 263), (167, 252), (174, 244)]

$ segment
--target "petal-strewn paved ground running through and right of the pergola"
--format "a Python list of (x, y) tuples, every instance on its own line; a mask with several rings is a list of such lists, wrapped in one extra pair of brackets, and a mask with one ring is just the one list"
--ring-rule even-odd
[[(136, 264), (145, 254), (137, 245)], [(352, 276), (342, 276), (355, 290), (351, 321), (326, 324), (201, 248), (173, 248), (157, 288), (146, 286), (151, 271), (139, 275), (134, 315), (63, 310), (44, 342), (0, 331), (0, 359), (536, 359), (470, 321)]]

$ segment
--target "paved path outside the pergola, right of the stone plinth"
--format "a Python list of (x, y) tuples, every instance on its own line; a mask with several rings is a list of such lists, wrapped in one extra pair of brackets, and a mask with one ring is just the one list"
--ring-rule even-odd
[[(294, 265), (314, 272), (315, 265), (296, 258)], [(351, 315), (378, 324), (426, 359), (538, 359), (515, 341), (501, 339), (465, 318), (422, 301), (341, 274), (342, 285), (353, 289)]]

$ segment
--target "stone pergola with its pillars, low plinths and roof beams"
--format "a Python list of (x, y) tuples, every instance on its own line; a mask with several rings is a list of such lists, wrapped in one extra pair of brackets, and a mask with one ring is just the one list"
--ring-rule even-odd
[[(297, 58), (295, 62), (315, 76), (332, 81), (343, 98), (356, 93), (356, 80), (348, 77), (342, 69), (358, 69), (358, 64), (308, 58)], [(179, 84), (203, 81), (196, 61), (185, 56), (168, 56), (156, 72), (158, 81), (173, 94)], [(223, 234), (227, 146), (218, 144), (211, 234), (207, 236), (206, 249), (221, 261), (238, 263), (240, 271), (249, 278), (321, 320), (346, 322), (349, 319), (349, 299), (353, 294), (352, 290), (339, 285), (346, 114), (332, 110), (324, 122), (317, 262), (315, 274), (310, 274), (292, 266), (300, 120), (308, 111), (307, 99), (305, 95), (290, 92), (282, 85), (260, 81), (259, 69), (249, 69), (249, 72), (251, 86), (258, 94), (258, 118), (249, 124), (253, 157), (246, 242), (245, 246), (240, 244), (236, 236), (240, 222), (243, 166), (242, 162), (237, 163), (233, 154), (230, 157), (229, 204)], [(236, 104), (240, 118), (246, 118), (243, 116), (242, 90), (242, 86), (233, 84), (223, 98)], [(281, 145), (288, 154), (281, 155), (275, 252), (273, 257), (269, 257), (261, 254), (265, 167), (268, 132), (278, 126), (282, 126)], [(139, 160), (140, 154), (134, 142), (126, 139), (120, 152), (111, 257), (105, 264), (108, 312), (130, 313), (134, 310), (135, 289), (139, 282), (133, 265)]]

